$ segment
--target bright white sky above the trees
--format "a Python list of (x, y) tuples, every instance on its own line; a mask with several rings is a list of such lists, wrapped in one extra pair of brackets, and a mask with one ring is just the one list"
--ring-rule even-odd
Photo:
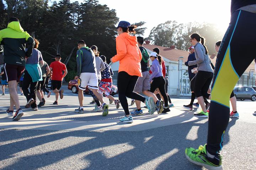
[[(70, 0), (71, 2), (83, 0)], [(217, 25), (224, 34), (230, 21), (231, 0), (98, 0), (100, 4), (115, 9), (119, 21), (131, 24), (144, 21), (147, 29), (144, 37), (148, 37), (150, 30), (166, 21), (178, 23), (208, 22)]]

